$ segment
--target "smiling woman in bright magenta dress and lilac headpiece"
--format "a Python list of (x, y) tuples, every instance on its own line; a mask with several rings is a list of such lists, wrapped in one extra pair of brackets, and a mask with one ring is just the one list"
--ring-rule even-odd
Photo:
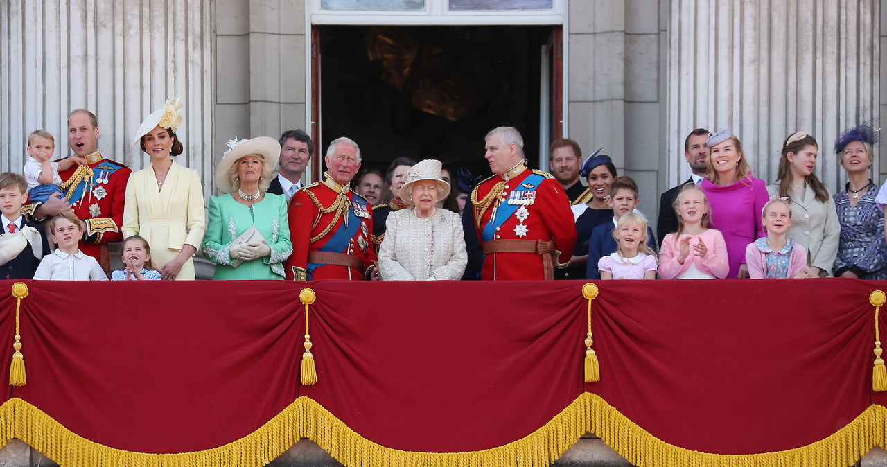
[(730, 272), (726, 278), (746, 278), (745, 247), (765, 237), (761, 210), (770, 198), (763, 180), (751, 176), (739, 138), (718, 129), (708, 141), (708, 173), (699, 187), (709, 198), (711, 227), (724, 234)]

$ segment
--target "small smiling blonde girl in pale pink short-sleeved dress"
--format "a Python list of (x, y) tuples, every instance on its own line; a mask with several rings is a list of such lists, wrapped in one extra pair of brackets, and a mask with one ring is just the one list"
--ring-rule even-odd
[(601, 279), (655, 279), (656, 255), (647, 245), (647, 221), (640, 214), (627, 213), (619, 218), (616, 253), (598, 261)]

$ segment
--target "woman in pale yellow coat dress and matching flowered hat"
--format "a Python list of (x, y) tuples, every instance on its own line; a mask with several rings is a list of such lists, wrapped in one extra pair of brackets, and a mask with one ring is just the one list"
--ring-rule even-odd
[(145, 237), (164, 280), (195, 278), (192, 256), (206, 229), (200, 175), (170, 157), (183, 151), (175, 131), (182, 122), (181, 108), (169, 97), (138, 128), (132, 145), (140, 142), (151, 156), (151, 166), (130, 175), (123, 208), (123, 238)]

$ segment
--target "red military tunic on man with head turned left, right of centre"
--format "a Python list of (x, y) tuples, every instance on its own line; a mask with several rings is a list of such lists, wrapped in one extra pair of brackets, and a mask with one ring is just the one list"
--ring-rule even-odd
[[(525, 161), (503, 175), (493, 175), (471, 193), (477, 236), (485, 247), (491, 240), (553, 241), (557, 268), (566, 267), (576, 245), (576, 225), (569, 199), (551, 175), (530, 170)], [(508, 214), (508, 213), (511, 214)], [(493, 219), (493, 216), (495, 220)], [(487, 253), (484, 280), (545, 279), (538, 253)]]

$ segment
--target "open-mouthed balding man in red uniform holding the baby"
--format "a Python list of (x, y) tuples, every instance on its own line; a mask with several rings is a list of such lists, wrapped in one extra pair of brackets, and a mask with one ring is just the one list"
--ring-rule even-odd
[(67, 136), (71, 150), (86, 160), (84, 166), (74, 166), (59, 172), (59, 188), (65, 196), (50, 198), (42, 205), (22, 208), (33, 217), (47, 218), (73, 208), (82, 221), (83, 237), (80, 251), (89, 254), (105, 269), (110, 269), (108, 242), (122, 241), (123, 204), (126, 184), (132, 171), (114, 160), (105, 159), (98, 152), (98, 119), (94, 113), (77, 109), (67, 119)]

